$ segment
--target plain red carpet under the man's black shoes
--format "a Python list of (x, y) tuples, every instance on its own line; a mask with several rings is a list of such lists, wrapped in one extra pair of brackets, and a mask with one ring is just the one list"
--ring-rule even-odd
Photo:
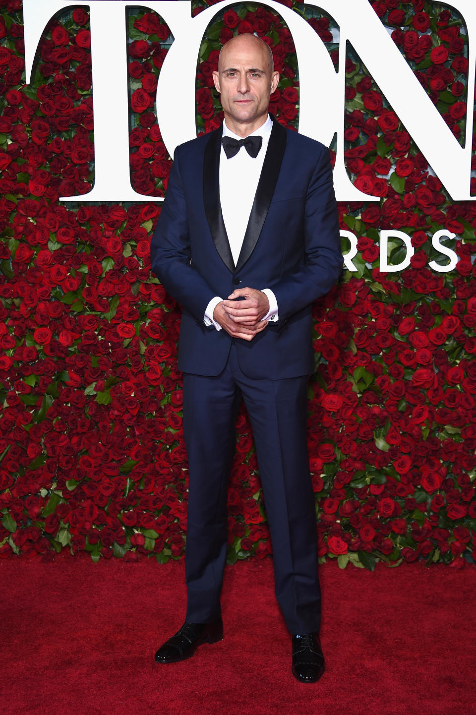
[(183, 563), (0, 563), (4, 715), (476, 715), (476, 568), (329, 563), (319, 683), (290, 673), (272, 562), (226, 573), (225, 638), (184, 663)]

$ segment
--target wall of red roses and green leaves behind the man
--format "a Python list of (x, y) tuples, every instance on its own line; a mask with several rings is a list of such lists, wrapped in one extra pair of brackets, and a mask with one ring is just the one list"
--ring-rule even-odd
[[(193, 12), (207, 4), (194, 0)], [(337, 64), (332, 18), (299, 0), (283, 4), (307, 19)], [(463, 142), (474, 68), (462, 19), (423, 0), (372, 6)], [(132, 184), (162, 196), (171, 162), (154, 94), (172, 38), (156, 14), (128, 12)], [(282, 73), (272, 112), (297, 127), (292, 37), (266, 6), (241, 4), (218, 14), (202, 43), (199, 132), (222, 118), (211, 79), (220, 44), (251, 31), (272, 46)], [(475, 557), (476, 205), (445, 194), (352, 47), (346, 63), (347, 169), (382, 200), (339, 204), (341, 227), (359, 237), (358, 270), (344, 272), (314, 307), (308, 442), (320, 556), (342, 568), (417, 558), (461, 567)], [(26, 86), (21, 0), (0, 0), (0, 71), (0, 556), (180, 558), (187, 457), (179, 306), (149, 269), (160, 204), (58, 200), (94, 183), (86, 10), (51, 22)], [(428, 267), (445, 262), (431, 243), (440, 228), (457, 234), (460, 260), (449, 273)], [(407, 270), (380, 273), (379, 229), (411, 237)], [(400, 260), (397, 242), (390, 262)], [(270, 552), (243, 411), (229, 561)]]

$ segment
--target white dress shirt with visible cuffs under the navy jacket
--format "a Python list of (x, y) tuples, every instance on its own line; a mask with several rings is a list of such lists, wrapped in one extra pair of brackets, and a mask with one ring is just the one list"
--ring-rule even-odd
[[(245, 147), (240, 147), (238, 153), (230, 159), (227, 159), (227, 154), (225, 154), (223, 147), (220, 152), (220, 204), (222, 206), (223, 221), (225, 229), (227, 230), (234, 265), (237, 265), (239, 252), (242, 250), (244, 234), (247, 230), (249, 215), (254, 202), (254, 194), (256, 194), (259, 177), (261, 176), (272, 126), (273, 123), (268, 114), (266, 122), (252, 132), (252, 134), (247, 135), (252, 137), (257, 134), (257, 136), (263, 139), (261, 149), (259, 149), (256, 159), (249, 156)], [(239, 137), (228, 129), (225, 122), (223, 122), (223, 136), (233, 137), (233, 139), (242, 139), (242, 137)], [(277, 301), (274, 293), (270, 288), (264, 288), (262, 292), (267, 295), (269, 301), (269, 312), (264, 316), (263, 320), (278, 320)], [(205, 310), (204, 315), (205, 325), (214, 325), (217, 330), (222, 330), (222, 326), (213, 320), (213, 311), (222, 300), (224, 299), (219, 296), (212, 298), (207, 305), (207, 310)]]

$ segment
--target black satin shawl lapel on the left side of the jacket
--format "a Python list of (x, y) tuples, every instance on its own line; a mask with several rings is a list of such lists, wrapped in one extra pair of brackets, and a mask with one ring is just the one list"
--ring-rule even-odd
[(219, 190), (220, 151), (222, 149), (223, 128), (212, 132), (205, 147), (203, 162), (203, 201), (212, 239), (224, 265), (234, 273), (234, 260), (229, 247), (227, 230), (222, 216)]

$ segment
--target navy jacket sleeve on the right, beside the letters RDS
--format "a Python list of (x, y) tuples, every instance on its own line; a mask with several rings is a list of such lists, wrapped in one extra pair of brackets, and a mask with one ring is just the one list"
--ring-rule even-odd
[(342, 271), (339, 217), (329, 150), (324, 147), (309, 181), (304, 207), (305, 260), (269, 286), (277, 299), (279, 325), (332, 288)]

